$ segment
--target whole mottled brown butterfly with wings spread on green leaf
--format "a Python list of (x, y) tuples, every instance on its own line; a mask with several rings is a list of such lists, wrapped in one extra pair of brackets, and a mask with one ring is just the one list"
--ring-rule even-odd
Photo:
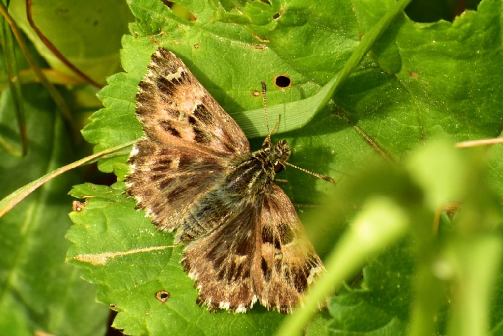
[(292, 202), (274, 183), (286, 141), (251, 152), (236, 122), (173, 53), (158, 48), (139, 83), (127, 192), (158, 229), (186, 243), (198, 304), (290, 313), (324, 271)]

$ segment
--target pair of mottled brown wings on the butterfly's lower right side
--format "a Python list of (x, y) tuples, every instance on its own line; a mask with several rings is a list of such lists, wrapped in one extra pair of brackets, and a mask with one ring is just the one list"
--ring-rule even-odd
[(212, 233), (190, 242), (182, 265), (195, 279), (198, 303), (245, 312), (260, 300), (292, 312), (323, 264), (283, 190), (267, 187)]

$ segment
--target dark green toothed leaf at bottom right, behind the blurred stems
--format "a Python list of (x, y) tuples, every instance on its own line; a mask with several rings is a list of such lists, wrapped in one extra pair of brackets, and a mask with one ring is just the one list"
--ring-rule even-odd
[(331, 334), (406, 334), (413, 262), (403, 242), (363, 271), (365, 288), (346, 288), (330, 299)]

